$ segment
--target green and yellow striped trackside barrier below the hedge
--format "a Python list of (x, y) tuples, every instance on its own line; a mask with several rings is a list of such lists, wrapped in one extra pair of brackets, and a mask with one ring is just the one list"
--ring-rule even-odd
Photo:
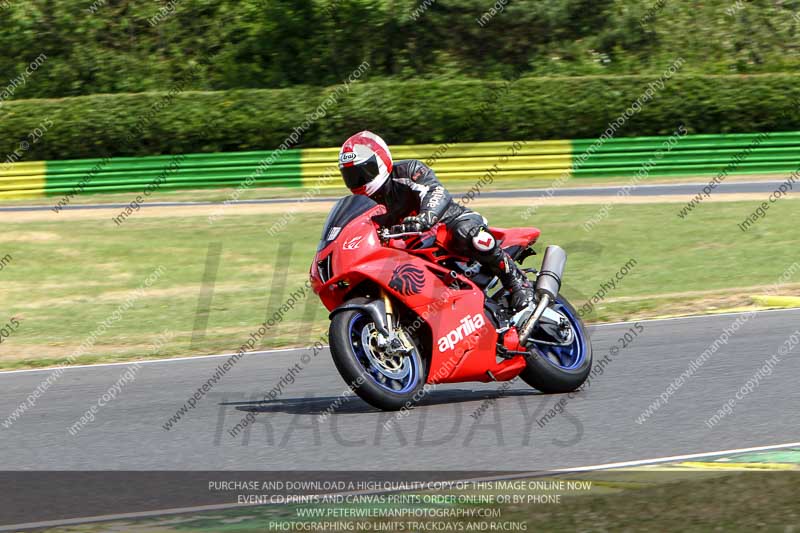
[[(338, 148), (5, 163), (0, 199), (77, 193), (236, 187), (340, 188)], [(509, 141), (392, 147), (395, 159), (427, 161), (446, 182), (563, 177), (658, 177), (791, 172), (800, 132)]]

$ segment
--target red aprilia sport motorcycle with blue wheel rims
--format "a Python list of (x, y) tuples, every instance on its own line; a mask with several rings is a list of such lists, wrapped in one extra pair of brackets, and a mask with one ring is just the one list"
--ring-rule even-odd
[[(580, 387), (592, 347), (577, 311), (559, 294), (566, 254), (548, 246), (534, 303), (512, 314), (499, 280), (448, 251), (442, 225), (390, 234), (372, 216), (385, 208), (351, 195), (333, 206), (311, 265), (331, 311), (330, 347), (345, 382), (384, 410), (410, 407), (426, 383), (508, 381), (545, 393)], [(536, 228), (491, 232), (518, 263), (534, 255)]]

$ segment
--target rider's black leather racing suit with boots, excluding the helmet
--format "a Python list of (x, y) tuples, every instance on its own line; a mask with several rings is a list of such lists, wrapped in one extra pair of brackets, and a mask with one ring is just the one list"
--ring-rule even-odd
[(386, 213), (373, 218), (386, 227), (420, 216), (430, 225), (442, 222), (450, 231), (451, 252), (477, 260), (511, 292), (512, 307), (519, 310), (532, 298), (531, 284), (517, 264), (491, 236), (487, 221), (479, 213), (453, 200), (433, 170), (422, 161), (395, 161), (389, 179), (372, 199), (386, 206)]

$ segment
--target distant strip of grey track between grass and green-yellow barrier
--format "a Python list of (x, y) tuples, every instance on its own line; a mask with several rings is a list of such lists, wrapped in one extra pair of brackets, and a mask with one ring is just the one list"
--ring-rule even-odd
[[(714, 194), (743, 194), (743, 193), (765, 193), (768, 194), (780, 186), (782, 181), (733, 181), (722, 182), (714, 189)], [(681, 195), (685, 194), (687, 199), (692, 198), (695, 194), (701, 192), (708, 182), (698, 183), (674, 183), (664, 185), (637, 185), (635, 187), (628, 186), (628, 190), (624, 193), (628, 196), (662, 196), (662, 195)], [(574, 188), (556, 188), (548, 191), (548, 189), (520, 189), (520, 190), (506, 190), (506, 191), (481, 191), (481, 198), (539, 198), (539, 197), (572, 197), (572, 196), (614, 196), (622, 191), (623, 186), (609, 186), (609, 187), (574, 187)], [(458, 196), (459, 193), (454, 193)], [(338, 200), (338, 197), (324, 196), (312, 197), (305, 199), (308, 202), (331, 202)], [(230, 204), (285, 204), (296, 202), (297, 198), (270, 198), (263, 200), (235, 200), (229, 201)], [(178, 207), (186, 205), (218, 205), (222, 202), (148, 202), (142, 204), (140, 207)], [(77, 204), (64, 206), (64, 210), (84, 210), (84, 209), (109, 209), (109, 208), (124, 208), (128, 204)], [(50, 205), (16, 205), (16, 206), (2, 206), (0, 212), (14, 212), (14, 211), (47, 211), (51, 209)]]

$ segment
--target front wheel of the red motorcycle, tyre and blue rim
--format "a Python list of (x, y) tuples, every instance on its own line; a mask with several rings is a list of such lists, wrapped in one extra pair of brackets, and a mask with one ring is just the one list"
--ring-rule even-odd
[(406, 337), (414, 347), (408, 355), (387, 355), (378, 347), (375, 322), (366, 311), (353, 309), (335, 314), (329, 333), (336, 369), (361, 399), (385, 411), (419, 401), (427, 365), (413, 338)]

